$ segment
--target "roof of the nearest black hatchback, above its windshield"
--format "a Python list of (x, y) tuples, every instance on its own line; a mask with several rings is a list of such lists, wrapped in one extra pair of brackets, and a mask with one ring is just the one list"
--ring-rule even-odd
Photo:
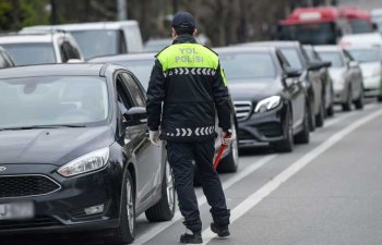
[(102, 76), (105, 64), (71, 63), (26, 65), (0, 70), (1, 78), (20, 78), (31, 76)]

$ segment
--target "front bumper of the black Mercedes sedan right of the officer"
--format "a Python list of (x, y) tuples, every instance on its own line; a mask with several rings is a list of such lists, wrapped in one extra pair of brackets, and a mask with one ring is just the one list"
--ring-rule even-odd
[(279, 142), (284, 136), (284, 109), (252, 113), (250, 118), (238, 123), (239, 146), (256, 146), (266, 143)]

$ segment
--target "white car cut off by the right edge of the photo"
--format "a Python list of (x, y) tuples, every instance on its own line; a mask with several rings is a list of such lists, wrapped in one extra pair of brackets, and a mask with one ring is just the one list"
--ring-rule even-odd
[(382, 101), (382, 49), (379, 47), (351, 47), (347, 51), (360, 63), (366, 96), (377, 96)]

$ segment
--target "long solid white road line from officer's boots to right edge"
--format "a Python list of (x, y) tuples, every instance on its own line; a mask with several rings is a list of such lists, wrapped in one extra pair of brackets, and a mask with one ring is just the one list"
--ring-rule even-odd
[[(261, 200), (263, 200), (265, 197), (267, 197), (271, 193), (273, 193), (275, 189), (277, 189), (283, 183), (288, 181), (291, 176), (294, 176), (296, 173), (298, 173), (300, 170), (302, 170), (305, 167), (307, 167), (309, 163), (311, 163), (317, 157), (319, 157), (321, 154), (325, 152), (327, 149), (330, 149), (333, 145), (337, 144), (339, 140), (342, 140), (345, 136), (357, 130), (358, 127), (362, 126), (363, 124), (370, 122), (371, 120), (382, 115), (382, 109), (369, 114), (368, 117), (365, 117), (344, 130), (339, 131), (338, 133), (334, 134), (332, 137), (330, 137), (327, 140), (323, 142), (321, 145), (315, 147), (313, 150), (309, 151), (305, 156), (302, 156), (300, 159), (295, 161), (290, 167), (288, 167), (286, 170), (284, 170), (280, 174), (278, 174), (275, 179), (263, 185), (260, 189), (254, 192), (251, 196), (249, 196), (247, 199), (244, 199), (242, 203), (240, 203), (232, 211), (230, 216), (230, 221), (235, 222), (237, 219), (242, 217), (246, 212), (251, 210), (254, 206), (256, 206)], [(215, 233), (213, 233), (210, 228), (203, 231), (203, 244), (207, 244), (212, 238), (216, 236)]]

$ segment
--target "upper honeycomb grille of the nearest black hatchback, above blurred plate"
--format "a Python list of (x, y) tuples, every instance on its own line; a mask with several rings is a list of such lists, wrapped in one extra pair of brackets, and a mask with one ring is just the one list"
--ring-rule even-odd
[(0, 175), (0, 198), (39, 196), (61, 186), (45, 175)]

